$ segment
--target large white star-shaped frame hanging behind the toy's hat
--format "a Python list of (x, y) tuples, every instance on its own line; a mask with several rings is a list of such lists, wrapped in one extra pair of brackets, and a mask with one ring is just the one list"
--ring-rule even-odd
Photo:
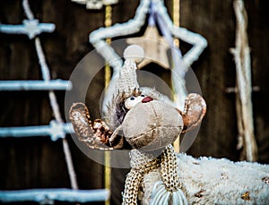
[[(166, 31), (171, 34), (171, 36), (175, 38), (180, 38), (183, 41), (187, 42), (193, 47), (187, 52), (185, 56), (182, 57), (183, 63), (187, 66), (181, 66), (180, 68), (175, 67), (173, 68), (173, 73), (171, 74), (171, 80), (174, 86), (176, 98), (179, 96), (184, 98), (186, 96), (186, 89), (185, 89), (185, 80), (184, 75), (187, 73), (189, 65), (193, 64), (195, 60), (198, 59), (200, 54), (203, 52), (204, 47), (207, 46), (207, 41), (204, 37), (194, 32), (191, 32), (187, 29), (177, 27), (173, 24), (173, 22), (169, 18), (169, 14), (167, 13), (167, 9), (163, 4), (162, 0), (141, 0), (139, 4), (134, 19), (126, 21), (121, 24), (115, 24), (114, 26), (108, 28), (100, 28), (99, 30), (95, 30), (90, 34), (90, 42), (96, 48), (96, 50), (100, 53), (101, 56), (105, 58), (107, 62), (113, 67), (113, 76), (112, 82), (108, 87), (108, 97), (111, 98), (111, 95), (114, 93), (112, 87), (115, 87), (113, 81), (117, 80), (117, 76), (119, 74), (119, 70), (123, 65), (123, 60), (120, 56), (117, 55), (113, 47), (110, 47), (106, 42), (106, 38), (115, 38), (115, 37), (124, 37), (131, 34), (137, 33), (143, 25), (145, 24), (145, 20), (147, 14), (151, 12), (151, 4), (155, 5), (156, 11), (161, 16), (162, 21), (165, 24)], [(134, 38), (131, 40), (132, 43), (139, 44), (140, 41), (133, 41)], [(143, 47), (146, 51), (148, 48)], [(157, 52), (156, 50), (152, 50), (152, 52)], [(151, 52), (151, 53), (152, 53)], [(148, 57), (148, 56), (145, 56)], [(147, 62), (148, 64), (149, 62)], [(156, 63), (156, 62), (154, 62)], [(178, 78), (180, 78), (178, 80)], [(178, 97), (177, 97), (178, 96)], [(104, 104), (106, 104), (106, 100)], [(178, 107), (182, 107), (184, 105), (184, 100), (179, 102)], [(105, 107), (104, 107), (105, 109)]]

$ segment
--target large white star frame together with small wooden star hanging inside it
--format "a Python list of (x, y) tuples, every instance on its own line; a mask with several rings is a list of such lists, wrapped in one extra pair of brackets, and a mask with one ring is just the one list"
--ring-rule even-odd
[[(173, 22), (169, 18), (169, 14), (167, 13), (167, 9), (161, 0), (142, 0), (139, 4), (134, 19), (129, 20), (127, 22), (121, 24), (115, 24), (109, 28), (100, 28), (99, 30), (95, 30), (91, 32), (90, 42), (96, 48), (96, 50), (100, 53), (101, 56), (105, 58), (107, 62), (113, 68), (113, 76), (108, 86), (108, 92), (106, 94), (106, 98), (103, 102), (103, 112), (107, 112), (106, 104), (112, 98), (112, 93), (115, 92), (115, 82), (118, 78), (119, 70), (122, 67), (123, 61), (120, 56), (117, 55), (114, 48), (108, 45), (106, 42), (106, 38), (116, 38), (116, 37), (125, 37), (128, 35), (132, 35), (138, 33), (143, 25), (146, 23), (147, 14), (150, 14), (150, 22), (148, 23), (148, 28), (144, 34), (144, 37), (148, 37), (148, 33), (152, 34), (153, 38), (157, 38), (157, 46), (163, 42), (163, 38), (167, 41), (165, 43), (164, 48), (168, 47), (172, 50), (172, 83), (175, 90), (175, 95), (181, 97), (178, 100), (177, 107), (184, 107), (184, 98), (187, 97), (187, 91), (185, 88), (185, 74), (188, 71), (189, 65), (193, 64), (195, 60), (198, 59), (200, 54), (203, 52), (204, 47), (207, 46), (207, 41), (201, 35), (186, 30), (184, 28), (177, 27), (173, 24)], [(151, 21), (153, 20), (153, 24)], [(157, 30), (154, 29), (156, 22), (161, 30), (162, 37), (158, 38)], [(173, 44), (173, 38), (179, 38), (183, 41), (187, 42), (193, 47), (187, 52), (186, 55), (182, 56), (182, 60), (180, 59), (180, 51)], [(143, 38), (138, 40), (138, 38), (127, 39), (127, 42), (142, 45), (144, 44)], [(153, 42), (153, 41), (152, 41)], [(156, 42), (155, 42), (156, 44)], [(161, 66), (167, 67), (168, 61), (167, 57), (164, 57), (164, 53), (159, 53), (160, 55), (156, 55), (156, 50), (146, 47), (146, 45), (142, 45), (145, 49), (145, 58), (152, 59), (152, 62), (161, 62), (160, 59), (163, 60), (164, 64)], [(163, 49), (163, 48), (162, 48)], [(165, 50), (165, 49), (164, 49)], [(149, 56), (147, 56), (149, 55)], [(178, 57), (179, 56), (179, 57)], [(150, 61), (146, 60), (144, 64), (149, 64)], [(179, 99), (179, 98), (178, 98)]]

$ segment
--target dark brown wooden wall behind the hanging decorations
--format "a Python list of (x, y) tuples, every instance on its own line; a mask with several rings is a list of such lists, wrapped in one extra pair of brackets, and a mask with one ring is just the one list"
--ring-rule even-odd
[[(235, 15), (232, 0), (181, 0), (180, 25), (200, 33), (208, 40), (208, 47), (192, 65), (201, 85), (208, 111), (198, 137), (188, 154), (239, 160), (235, 95), (227, 94), (234, 87), (235, 64), (230, 47), (235, 46)], [(120, 0), (113, 6), (113, 23), (134, 17), (139, 1)], [(172, 1), (165, 1), (169, 13)], [(245, 1), (248, 14), (248, 38), (251, 47), (253, 85), (260, 88), (253, 93), (258, 160), (269, 163), (269, 3), (266, 0)], [(87, 11), (84, 5), (70, 0), (30, 0), (34, 15), (43, 22), (56, 24), (54, 33), (40, 35), (48, 65), (54, 79), (68, 80), (76, 64), (93, 47), (88, 42), (92, 30), (104, 26), (104, 10)], [(0, 21), (19, 24), (25, 19), (22, 2), (0, 1)], [(138, 35), (141, 35), (138, 34)], [(0, 33), (0, 80), (41, 79), (34, 41), (23, 35)], [(183, 50), (189, 46), (181, 43)], [(151, 68), (150, 65), (148, 68)], [(164, 72), (165, 73), (165, 72)], [(92, 83), (94, 92), (87, 96), (91, 110), (99, 110), (95, 100), (104, 87), (104, 73)], [(56, 92), (64, 115), (65, 92)], [(0, 92), (0, 126), (48, 124), (53, 119), (48, 92)], [(93, 117), (99, 117), (93, 111)], [(67, 137), (74, 159), (81, 189), (103, 187), (103, 166), (87, 158)], [(70, 187), (61, 141), (47, 137), (0, 139), (0, 189)], [(112, 202), (120, 201), (127, 170), (113, 169)], [(118, 177), (120, 173), (120, 177)]]

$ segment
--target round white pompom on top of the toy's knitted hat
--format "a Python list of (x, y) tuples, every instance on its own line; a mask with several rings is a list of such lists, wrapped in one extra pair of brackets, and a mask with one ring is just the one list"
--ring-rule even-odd
[(127, 59), (133, 59), (136, 64), (139, 64), (143, 61), (144, 52), (143, 47), (140, 47), (138, 45), (131, 45), (129, 47), (126, 47), (124, 51), (124, 58)]

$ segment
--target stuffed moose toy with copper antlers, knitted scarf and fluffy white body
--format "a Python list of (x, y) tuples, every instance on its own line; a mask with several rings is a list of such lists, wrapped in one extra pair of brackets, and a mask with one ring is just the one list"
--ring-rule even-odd
[[(130, 50), (126, 48), (128, 55)], [(137, 58), (125, 58), (117, 93), (108, 105), (108, 122), (92, 123), (82, 103), (69, 112), (79, 140), (90, 148), (130, 149), (132, 168), (126, 175), (123, 204), (268, 203), (268, 166), (175, 154), (171, 143), (202, 121), (204, 98), (189, 94), (183, 111), (170, 106), (161, 93), (139, 87)]]

